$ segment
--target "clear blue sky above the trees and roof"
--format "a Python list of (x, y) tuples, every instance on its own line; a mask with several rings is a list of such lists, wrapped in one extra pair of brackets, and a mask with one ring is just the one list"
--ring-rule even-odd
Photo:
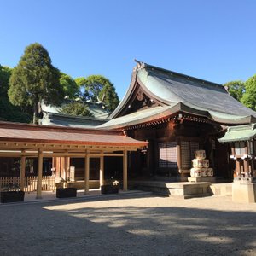
[(135, 58), (224, 84), (256, 73), (255, 0), (0, 0), (0, 64), (38, 42), (73, 78), (125, 95)]

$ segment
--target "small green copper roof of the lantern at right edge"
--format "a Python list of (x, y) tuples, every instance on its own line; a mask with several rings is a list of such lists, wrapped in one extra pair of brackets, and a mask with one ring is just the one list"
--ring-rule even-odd
[(224, 137), (218, 139), (220, 143), (249, 141), (256, 137), (256, 124), (229, 127)]

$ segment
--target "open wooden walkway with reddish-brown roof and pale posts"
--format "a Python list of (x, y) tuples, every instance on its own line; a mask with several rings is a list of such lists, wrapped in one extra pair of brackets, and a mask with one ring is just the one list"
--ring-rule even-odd
[(100, 185), (104, 184), (104, 157), (123, 159), (123, 190), (127, 190), (127, 152), (147, 142), (127, 137), (123, 131), (0, 122), (0, 157), (20, 158), (20, 190), (25, 187), (26, 157), (38, 159), (37, 199), (42, 198), (44, 157), (64, 157), (64, 179), (69, 177), (70, 157), (84, 158), (84, 194), (89, 193), (90, 158), (100, 158)]

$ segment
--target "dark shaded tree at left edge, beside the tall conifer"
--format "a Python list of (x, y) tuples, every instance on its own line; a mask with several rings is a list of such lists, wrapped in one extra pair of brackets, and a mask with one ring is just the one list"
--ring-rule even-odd
[(9, 102), (9, 78), (12, 69), (0, 65), (0, 119), (14, 122), (30, 122), (29, 109), (16, 107)]

